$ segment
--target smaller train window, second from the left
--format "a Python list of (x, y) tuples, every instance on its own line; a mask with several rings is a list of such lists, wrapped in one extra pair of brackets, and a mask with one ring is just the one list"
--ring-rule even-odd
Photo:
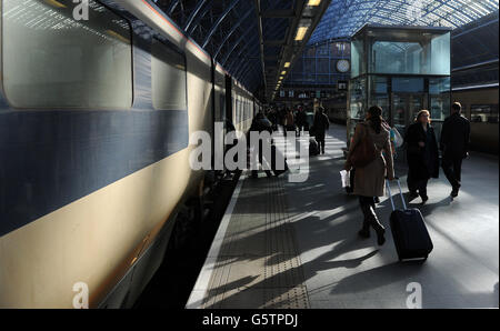
[(188, 108), (186, 58), (157, 39), (153, 39), (151, 47), (151, 81), (154, 109)]

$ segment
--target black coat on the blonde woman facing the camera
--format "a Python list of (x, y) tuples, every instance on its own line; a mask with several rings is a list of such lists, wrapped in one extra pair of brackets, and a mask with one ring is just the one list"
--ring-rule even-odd
[[(427, 142), (427, 133), (419, 122), (411, 124), (404, 134), (407, 161), (413, 179), (439, 177), (439, 150), (434, 129), (428, 126), (427, 130), (430, 134), (430, 143)], [(426, 146), (421, 148), (419, 141), (424, 142)]]

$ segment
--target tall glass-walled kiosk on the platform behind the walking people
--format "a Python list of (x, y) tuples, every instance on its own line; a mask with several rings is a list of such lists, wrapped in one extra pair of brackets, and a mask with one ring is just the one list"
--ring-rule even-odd
[(351, 40), (348, 146), (371, 106), (404, 137), (416, 114), (429, 110), (439, 141), (450, 114), (450, 28), (370, 26)]

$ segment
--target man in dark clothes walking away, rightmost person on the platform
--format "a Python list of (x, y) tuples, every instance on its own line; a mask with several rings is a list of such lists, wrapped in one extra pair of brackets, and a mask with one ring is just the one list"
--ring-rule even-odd
[(451, 197), (457, 197), (461, 187), (462, 160), (469, 156), (470, 122), (460, 114), (462, 106), (454, 102), (451, 116), (444, 120), (441, 131), (442, 170), (450, 182)]

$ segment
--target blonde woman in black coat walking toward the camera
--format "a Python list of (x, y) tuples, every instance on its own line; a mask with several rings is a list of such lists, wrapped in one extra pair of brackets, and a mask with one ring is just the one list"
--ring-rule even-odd
[(420, 195), (422, 203), (429, 200), (427, 183), (439, 178), (439, 151), (434, 129), (428, 110), (421, 110), (404, 136), (407, 143), (409, 201)]

